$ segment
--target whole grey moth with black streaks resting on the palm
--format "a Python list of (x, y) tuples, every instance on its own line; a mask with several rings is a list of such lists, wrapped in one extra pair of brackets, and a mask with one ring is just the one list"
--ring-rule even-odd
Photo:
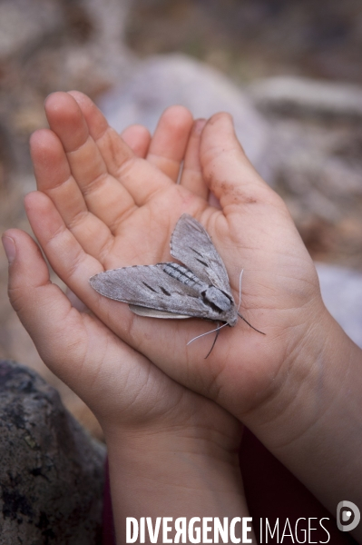
[[(209, 234), (187, 213), (181, 215), (171, 235), (171, 256), (181, 263), (134, 265), (100, 272), (92, 276), (91, 285), (105, 297), (128, 302), (131, 311), (139, 316), (203, 318), (230, 327), (238, 322), (238, 316), (247, 322), (235, 305), (228, 273)], [(219, 325), (213, 331), (217, 333), (210, 352)]]

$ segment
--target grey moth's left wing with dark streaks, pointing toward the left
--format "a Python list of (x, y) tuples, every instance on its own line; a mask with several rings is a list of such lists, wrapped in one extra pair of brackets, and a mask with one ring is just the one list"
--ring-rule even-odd
[[(222, 314), (202, 302), (195, 290), (164, 272), (164, 265), (136, 265), (100, 272), (90, 278), (90, 282), (94, 290), (105, 297), (156, 311), (154, 318), (164, 318), (156, 314), (170, 312), (180, 317), (223, 320)], [(142, 315), (151, 316), (147, 311)]]

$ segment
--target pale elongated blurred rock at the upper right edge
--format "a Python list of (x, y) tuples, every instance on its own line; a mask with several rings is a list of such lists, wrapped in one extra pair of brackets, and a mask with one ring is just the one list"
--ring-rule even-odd
[(263, 111), (362, 118), (362, 89), (357, 85), (279, 76), (251, 84), (249, 94)]

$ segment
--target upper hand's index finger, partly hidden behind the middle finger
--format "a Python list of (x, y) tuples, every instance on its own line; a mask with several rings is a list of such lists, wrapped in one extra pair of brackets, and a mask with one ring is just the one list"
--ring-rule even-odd
[(170, 178), (160, 173), (158, 168), (132, 154), (132, 150), (122, 141), (120, 134), (108, 125), (102, 112), (88, 96), (77, 91), (69, 94), (81, 108), (108, 172), (122, 183), (136, 205), (142, 206), (154, 193), (171, 185)]

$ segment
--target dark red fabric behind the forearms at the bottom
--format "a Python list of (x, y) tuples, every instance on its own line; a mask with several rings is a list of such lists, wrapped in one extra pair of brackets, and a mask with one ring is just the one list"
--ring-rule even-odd
[[(262, 543), (267, 542), (270, 544), (280, 543), (282, 531), (286, 519), (288, 519), (293, 531), (294, 541), (290, 537), (285, 537), (282, 543), (283, 545), (289, 545), (290, 543), (298, 542), (295, 539), (295, 524), (301, 517), (307, 519), (307, 522), (302, 521), (306, 524), (308, 524), (308, 519), (312, 519), (313, 517), (317, 519), (311, 521), (311, 528), (317, 528), (317, 530), (311, 531), (310, 541), (307, 538), (307, 543), (326, 542), (328, 534), (320, 528), (318, 520), (327, 517), (329, 520), (324, 520), (323, 525), (330, 534), (330, 540), (328, 541), (330, 545), (357, 545), (357, 541), (348, 533), (338, 530), (336, 520), (329, 511), (247, 429), (244, 431), (240, 445), (240, 468), (249, 513), (253, 518), (253, 527), (259, 543), (260, 518), (263, 520), (268, 519), (271, 529), (274, 528), (275, 522), (279, 518), (279, 540), (277, 540), (276, 535), (274, 538), (271, 538), (269, 534), (268, 541), (265, 539), (265, 536), (263, 536), (263, 540), (261, 541)], [(346, 498), (342, 498), (341, 500), (346, 500)], [(300, 532), (302, 528), (303, 526), (300, 525), (298, 531)], [(301, 533), (298, 534), (298, 540), (303, 542), (303, 535)], [(102, 545), (115, 544), (107, 464)]]

